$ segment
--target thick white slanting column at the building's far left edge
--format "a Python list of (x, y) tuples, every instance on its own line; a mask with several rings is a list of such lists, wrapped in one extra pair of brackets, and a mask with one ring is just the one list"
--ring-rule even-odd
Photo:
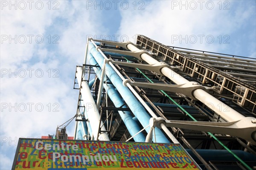
[[(94, 102), (93, 96), (91, 95), (90, 88), (88, 84), (84, 81), (81, 81), (82, 77), (82, 68), (77, 67), (76, 68), (76, 78), (79, 83), (79, 87), (81, 89), (81, 95), (84, 99), (84, 106), (86, 108), (86, 112), (88, 113), (88, 119), (90, 121), (90, 125), (92, 127), (93, 136), (98, 136), (98, 129), (99, 129), (99, 123), (101, 125), (103, 124), (102, 121), (100, 121), (100, 115), (98, 109), (95, 107), (96, 103)], [(102, 126), (101, 130), (106, 130), (104, 126)], [(100, 133), (98, 139), (101, 141), (109, 141), (109, 137), (107, 133)]]

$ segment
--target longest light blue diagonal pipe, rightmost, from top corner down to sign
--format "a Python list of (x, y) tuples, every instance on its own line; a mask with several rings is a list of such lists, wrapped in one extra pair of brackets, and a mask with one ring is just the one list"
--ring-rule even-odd
[[(104, 64), (104, 57), (102, 56), (102, 54), (100, 54), (99, 51), (96, 51), (96, 48), (92, 43), (89, 43), (88, 49), (90, 50), (90, 53), (93, 55), (96, 62), (100, 66), (102, 66)], [(88, 55), (88, 57), (90, 58), (91, 56)], [(106, 64), (106, 69), (108, 69), (108, 71), (112, 73), (108, 76), (111, 82), (113, 83), (113, 85), (116, 87), (117, 91), (119, 91), (120, 95), (125, 100), (126, 104), (129, 106), (129, 108), (134, 113), (134, 115), (138, 118), (141, 125), (143, 127), (146, 127), (149, 124), (149, 119), (151, 117), (148, 115), (145, 108), (141, 105), (141, 103), (134, 96), (134, 94), (129, 90), (129, 88), (125, 87), (122, 84), (122, 79), (119, 76), (117, 76), (116, 72), (113, 70), (113, 68), (109, 64)], [(147, 132), (149, 130), (150, 130), (149, 127), (146, 128)], [(155, 134), (156, 134), (157, 142), (170, 143), (160, 129), (155, 128)], [(153, 140), (154, 140), (154, 137), (153, 137)]]

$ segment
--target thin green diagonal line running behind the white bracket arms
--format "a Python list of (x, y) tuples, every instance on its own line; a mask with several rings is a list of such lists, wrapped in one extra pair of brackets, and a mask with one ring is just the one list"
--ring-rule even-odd
[[(125, 57), (124, 57), (125, 58)], [(125, 58), (126, 59), (126, 58)], [(128, 62), (130, 62), (128, 59), (126, 59)], [(139, 71), (146, 79), (148, 79), (149, 82), (154, 83), (151, 79), (149, 79), (142, 71), (140, 71), (139, 68), (136, 68), (137, 71)], [(183, 112), (185, 112), (192, 120), (195, 122), (198, 122), (191, 114), (189, 114), (184, 108), (182, 108), (177, 102), (175, 102), (172, 97), (170, 97), (166, 92), (163, 90), (160, 90), (163, 94), (165, 94), (175, 105), (177, 105)], [(212, 136), (213, 139), (215, 139), (221, 146), (223, 146), (229, 153), (231, 153), (236, 159), (238, 159), (245, 167), (247, 167), (248, 170), (253, 170), (249, 165), (247, 165), (242, 159), (240, 159), (236, 153), (233, 153), (227, 146), (225, 146), (216, 136), (214, 136), (212, 133), (207, 132), (210, 136)]]

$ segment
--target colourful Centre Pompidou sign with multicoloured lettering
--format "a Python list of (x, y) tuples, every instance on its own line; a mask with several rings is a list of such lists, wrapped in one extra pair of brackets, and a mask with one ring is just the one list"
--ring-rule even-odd
[(180, 144), (19, 139), (13, 170), (62, 168), (199, 169)]

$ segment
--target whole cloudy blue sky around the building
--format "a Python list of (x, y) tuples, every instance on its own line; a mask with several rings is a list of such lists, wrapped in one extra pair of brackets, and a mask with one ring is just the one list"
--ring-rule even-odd
[[(76, 114), (88, 37), (256, 58), (255, 0), (0, 0), (0, 169), (20, 137), (55, 134)], [(67, 126), (74, 134), (75, 122)]]

